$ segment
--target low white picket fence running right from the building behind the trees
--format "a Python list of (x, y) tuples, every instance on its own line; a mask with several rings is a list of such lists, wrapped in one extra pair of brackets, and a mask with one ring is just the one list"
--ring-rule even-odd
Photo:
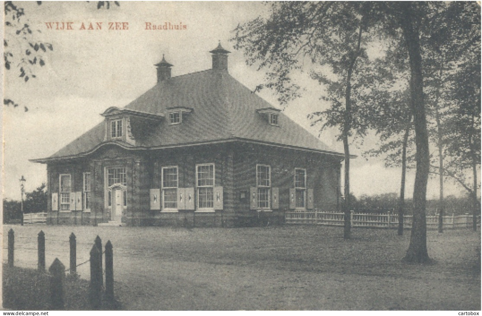
[[(329, 226), (343, 226), (345, 214), (342, 212), (327, 211), (286, 211), (284, 213), (286, 224), (319, 224)], [(351, 211), (352, 227), (398, 227), (398, 214), (386, 213), (358, 213)], [(477, 221), (480, 226), (480, 217)], [(439, 225), (438, 215), (427, 216), (427, 228), (436, 229)], [(403, 227), (412, 228), (412, 215), (403, 216)], [(443, 216), (443, 227), (445, 228), (471, 228), (472, 215), (445, 215)]]

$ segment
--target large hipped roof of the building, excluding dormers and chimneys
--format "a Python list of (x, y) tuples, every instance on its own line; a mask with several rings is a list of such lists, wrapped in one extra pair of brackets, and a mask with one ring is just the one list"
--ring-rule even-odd
[[(256, 110), (276, 108), (226, 70), (209, 69), (162, 80), (125, 109), (167, 116), (166, 108), (172, 107), (188, 107), (193, 111), (183, 118), (182, 124), (169, 125), (168, 119), (152, 124), (142, 138), (136, 138), (135, 146), (115, 143), (124, 148), (154, 149), (243, 140), (343, 156), (282, 112), (279, 126), (270, 125)], [(88, 155), (104, 144), (114, 143), (105, 142), (104, 136), (105, 122), (102, 122), (49, 158), (33, 161)]]

